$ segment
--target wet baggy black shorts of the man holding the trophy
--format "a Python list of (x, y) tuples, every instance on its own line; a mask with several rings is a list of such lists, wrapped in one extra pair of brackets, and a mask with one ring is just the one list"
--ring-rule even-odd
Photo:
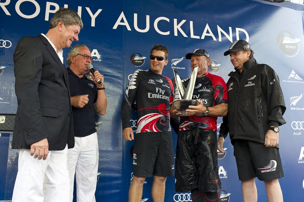
[(175, 166), (175, 191), (219, 190), (216, 131), (203, 128), (179, 131)]

